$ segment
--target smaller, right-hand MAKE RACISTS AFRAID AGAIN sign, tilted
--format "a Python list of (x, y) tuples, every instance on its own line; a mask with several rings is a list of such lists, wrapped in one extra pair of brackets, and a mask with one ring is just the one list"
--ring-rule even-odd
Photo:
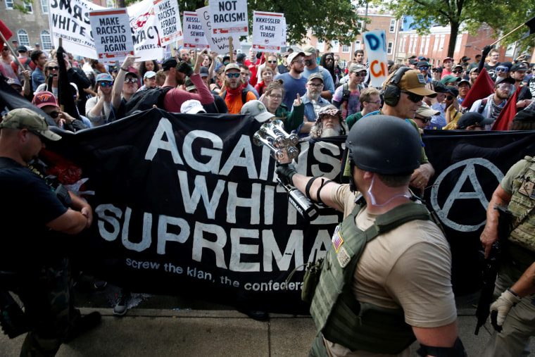
[(153, 0), (160, 46), (182, 39), (182, 25), (177, 0)]

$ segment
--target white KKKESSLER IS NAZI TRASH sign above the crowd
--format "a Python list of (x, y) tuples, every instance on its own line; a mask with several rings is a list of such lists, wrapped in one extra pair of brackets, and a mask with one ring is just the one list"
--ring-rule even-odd
[(282, 45), (282, 13), (253, 13), (253, 49), (279, 52)]

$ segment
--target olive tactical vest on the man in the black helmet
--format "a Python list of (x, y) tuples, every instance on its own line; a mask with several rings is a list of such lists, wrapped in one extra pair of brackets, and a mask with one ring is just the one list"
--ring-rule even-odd
[(399, 353), (415, 341), (413, 330), (405, 323), (402, 308), (382, 308), (360, 303), (351, 285), (355, 268), (367, 242), (412, 220), (432, 220), (423, 204), (404, 203), (379, 215), (374, 225), (359, 230), (355, 217), (365, 206), (364, 199), (336, 228), (333, 246), (327, 252), (320, 281), (310, 305), (317, 330), (326, 339), (351, 351)]

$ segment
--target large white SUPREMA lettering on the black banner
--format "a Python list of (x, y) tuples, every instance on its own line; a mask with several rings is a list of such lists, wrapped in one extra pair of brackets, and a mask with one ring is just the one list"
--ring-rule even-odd
[[(108, 242), (113, 242), (118, 238), (121, 230), (120, 218), (122, 217), (122, 211), (111, 205), (101, 204), (95, 208), (97, 226), (99, 227), (99, 234), (103, 239)], [(108, 215), (111, 213), (111, 215)], [(132, 218), (132, 209), (130, 207), (125, 208), (125, 220), (122, 223), (121, 242), (126, 249), (130, 251), (146, 251), (150, 248), (152, 237), (152, 223), (153, 215), (149, 212), (143, 213), (142, 234), (141, 242), (130, 242), (130, 220)], [(168, 215), (158, 215), (158, 237), (156, 238), (156, 252), (160, 255), (165, 255), (167, 244), (185, 244), (190, 237), (190, 223), (187, 220), (177, 217), (170, 217)], [(106, 225), (108, 223), (108, 225)], [(111, 231), (108, 229), (111, 228)], [(215, 256), (215, 264), (218, 268), (229, 269), (232, 271), (260, 271), (263, 269), (265, 272), (271, 272), (274, 270), (273, 262), (276, 263), (278, 270), (289, 270), (291, 261), (294, 261), (294, 265), (303, 264), (303, 231), (292, 230), (287, 240), (287, 246), (284, 248), (284, 253), (277, 245), (275, 236), (272, 230), (253, 230), (244, 228), (231, 228), (229, 231), (229, 237), (223, 227), (210, 223), (195, 222), (193, 230), (193, 244), (191, 249), (191, 258), (194, 261), (202, 263), (203, 257), (206, 255)], [(170, 226), (180, 228), (180, 233), (175, 234), (169, 232)], [(176, 230), (175, 230), (176, 231)], [(261, 235), (260, 235), (261, 234)], [(213, 240), (215, 237), (215, 241)], [(230, 256), (225, 259), (225, 253), (223, 248), (228, 244), (230, 238)], [(249, 244), (241, 242), (241, 238), (248, 239)], [(259, 246), (258, 243), (251, 243), (251, 239), (260, 240), (263, 244), (263, 252), (260, 254), (262, 257), (261, 262), (242, 262), (241, 256), (247, 254), (249, 256), (256, 254), (258, 256)], [(319, 230), (313, 243), (313, 249), (308, 256), (307, 261), (313, 261), (315, 258), (324, 257), (327, 253), (327, 249), (330, 246), (330, 234), (327, 230)], [(322, 247), (324, 249), (322, 249)], [(229, 267), (225, 261), (229, 261)], [(262, 263), (260, 265), (260, 263)], [(298, 270), (303, 270), (299, 268)], [(166, 270), (168, 271), (168, 270)], [(176, 273), (176, 272), (175, 272)]]

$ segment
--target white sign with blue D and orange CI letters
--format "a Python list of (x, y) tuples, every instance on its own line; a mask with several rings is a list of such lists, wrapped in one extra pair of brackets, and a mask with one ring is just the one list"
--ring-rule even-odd
[(386, 33), (384, 30), (375, 30), (365, 32), (363, 35), (368, 63), (370, 63), (370, 86), (381, 87), (389, 74)]

